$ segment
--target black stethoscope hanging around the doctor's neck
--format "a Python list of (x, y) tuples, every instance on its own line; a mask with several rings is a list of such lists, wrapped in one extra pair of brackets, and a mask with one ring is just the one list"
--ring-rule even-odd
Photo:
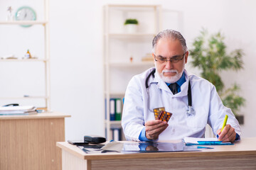
[[(146, 93), (148, 94), (148, 109), (149, 111), (153, 112), (149, 105), (150, 105), (150, 95), (149, 95), (149, 78), (152, 76), (154, 77), (154, 74), (156, 72), (156, 69), (154, 68), (148, 75), (148, 77), (146, 77), (146, 81), (145, 81), (145, 84), (146, 84)], [(191, 115), (196, 115), (196, 111), (193, 110), (193, 107), (192, 107), (192, 94), (191, 94), (191, 84), (190, 84), (190, 81), (188, 79), (188, 109), (186, 111), (186, 114), (188, 116), (191, 116)]]

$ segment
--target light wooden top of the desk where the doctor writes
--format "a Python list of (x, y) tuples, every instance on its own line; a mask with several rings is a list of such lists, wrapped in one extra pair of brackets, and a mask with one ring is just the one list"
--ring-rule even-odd
[(200, 152), (154, 152), (154, 153), (134, 153), (124, 154), (110, 152), (105, 154), (86, 154), (75, 145), (68, 142), (57, 142), (57, 147), (70, 152), (80, 159), (99, 160), (99, 159), (134, 159), (134, 158), (153, 158), (153, 157), (207, 157), (207, 156), (231, 156), (239, 155), (256, 155), (256, 137), (242, 138), (235, 145), (213, 146), (214, 149), (201, 149)]

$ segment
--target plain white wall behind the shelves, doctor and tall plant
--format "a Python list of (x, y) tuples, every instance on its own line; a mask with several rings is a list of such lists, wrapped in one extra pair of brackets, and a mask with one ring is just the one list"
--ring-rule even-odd
[[(107, 3), (161, 4), (164, 9), (164, 28), (181, 31), (187, 40), (188, 49), (201, 28), (207, 28), (210, 33), (221, 30), (230, 51), (242, 48), (245, 52), (245, 69), (237, 73), (223, 72), (223, 79), (227, 86), (233, 82), (242, 86), (241, 95), (246, 98), (246, 106), (241, 109), (241, 113), (245, 114), (242, 137), (256, 136), (256, 114), (253, 113), (256, 103), (253, 97), (256, 96), (256, 1), (54, 0), (50, 1), (51, 106), (53, 111), (72, 115), (65, 122), (66, 140), (105, 133), (102, 6)], [(9, 1), (0, 0), (2, 5), (9, 5)], [(176, 11), (176, 17), (169, 15), (171, 11)], [(198, 73), (189, 64), (186, 68)]]

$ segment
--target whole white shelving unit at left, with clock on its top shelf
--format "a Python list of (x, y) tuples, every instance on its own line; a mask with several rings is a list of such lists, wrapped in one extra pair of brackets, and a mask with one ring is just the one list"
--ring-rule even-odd
[[(6, 10), (1, 10), (0, 105), (20, 103), (50, 110), (48, 0), (4, 1), (2, 5), (12, 6), (13, 15), (19, 7), (31, 6), (36, 21), (6, 21)], [(28, 49), (35, 59), (23, 59)], [(16, 59), (4, 57), (10, 54)]]

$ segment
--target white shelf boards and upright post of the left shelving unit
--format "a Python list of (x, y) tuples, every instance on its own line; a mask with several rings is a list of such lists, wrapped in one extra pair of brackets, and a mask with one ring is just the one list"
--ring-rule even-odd
[[(11, 3), (11, 2), (10, 2)], [(26, 3), (26, 2), (25, 2)], [(33, 100), (43, 100), (45, 103), (43, 106), (37, 106), (38, 108), (41, 108), (43, 110), (46, 111), (50, 111), (50, 45), (49, 45), (49, 15), (48, 15), (48, 6), (49, 6), (49, 0), (43, 0), (42, 1), (43, 4), (43, 16), (39, 21), (0, 21), (0, 26), (20, 26), (20, 25), (31, 25), (31, 27), (28, 28), (16, 28), (19, 29), (21, 31), (24, 31), (27, 33), (27, 31), (29, 31), (29, 29), (33, 28), (33, 26), (38, 25), (38, 26), (42, 26), (43, 27), (43, 53), (44, 54), (39, 54), (39, 55), (43, 55), (43, 57), (38, 59), (21, 59), (22, 56), (18, 56), (18, 59), (0, 59), (0, 64), (8, 64), (8, 63), (19, 63), (21, 66), (21, 64), (25, 64), (25, 63), (42, 63), (43, 66), (41, 68), (43, 68), (43, 81), (44, 81), (44, 95), (18, 95), (18, 96), (0, 96), (0, 100), (1, 101), (11, 101), (11, 103), (19, 103), (16, 101), (28, 101), (28, 103), (31, 103), (31, 101)], [(42, 14), (42, 13), (40, 13)], [(38, 13), (37, 13), (38, 16)], [(23, 30), (22, 30), (23, 29)], [(35, 38), (34, 38), (35, 39)], [(36, 39), (33, 40), (33, 42), (31, 43), (36, 43)], [(24, 55), (27, 49), (24, 49)], [(15, 51), (15, 49), (14, 49)], [(15, 56), (16, 57), (16, 56)], [(31, 65), (33, 65), (33, 63), (31, 63)], [(1, 77), (0, 77), (1, 79)], [(13, 79), (15, 79), (15, 77), (13, 77)], [(37, 77), (33, 77), (33, 79), (37, 79)], [(28, 94), (30, 93), (30, 91), (28, 91)], [(42, 102), (40, 102), (42, 103)], [(31, 103), (32, 105), (32, 103)]]

